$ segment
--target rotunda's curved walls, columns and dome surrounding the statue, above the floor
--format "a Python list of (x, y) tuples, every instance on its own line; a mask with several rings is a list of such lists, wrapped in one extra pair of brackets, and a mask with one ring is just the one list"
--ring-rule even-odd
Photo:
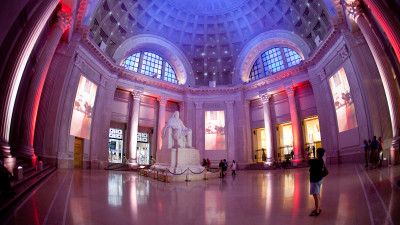
[(212, 163), (398, 162), (390, 0), (70, 0), (3, 7), (1, 151), (58, 168), (154, 164), (175, 111)]

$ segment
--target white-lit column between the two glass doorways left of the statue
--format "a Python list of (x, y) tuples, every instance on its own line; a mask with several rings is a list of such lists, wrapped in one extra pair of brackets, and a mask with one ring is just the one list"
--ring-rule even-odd
[(134, 90), (132, 92), (133, 104), (132, 104), (132, 117), (129, 124), (129, 167), (136, 169), (138, 167), (136, 151), (137, 151), (137, 131), (139, 126), (139, 107), (140, 107), (140, 97), (142, 96), (142, 91)]

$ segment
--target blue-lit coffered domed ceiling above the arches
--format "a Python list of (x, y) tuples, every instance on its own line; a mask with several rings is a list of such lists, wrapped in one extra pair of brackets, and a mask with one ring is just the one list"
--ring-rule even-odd
[(323, 0), (100, 0), (90, 27), (110, 57), (134, 35), (165, 38), (186, 55), (196, 85), (208, 86), (232, 83), (237, 56), (255, 36), (288, 30), (314, 50), (331, 24)]

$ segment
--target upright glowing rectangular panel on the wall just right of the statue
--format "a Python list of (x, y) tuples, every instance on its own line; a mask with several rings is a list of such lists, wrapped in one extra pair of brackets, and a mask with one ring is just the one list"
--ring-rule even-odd
[(205, 112), (205, 150), (225, 150), (225, 111)]

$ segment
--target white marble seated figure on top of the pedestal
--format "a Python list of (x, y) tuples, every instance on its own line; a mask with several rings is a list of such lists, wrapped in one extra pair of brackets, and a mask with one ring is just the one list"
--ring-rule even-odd
[(183, 125), (182, 120), (179, 119), (178, 111), (174, 112), (174, 115), (162, 129), (161, 137), (162, 149), (192, 147), (192, 130)]

